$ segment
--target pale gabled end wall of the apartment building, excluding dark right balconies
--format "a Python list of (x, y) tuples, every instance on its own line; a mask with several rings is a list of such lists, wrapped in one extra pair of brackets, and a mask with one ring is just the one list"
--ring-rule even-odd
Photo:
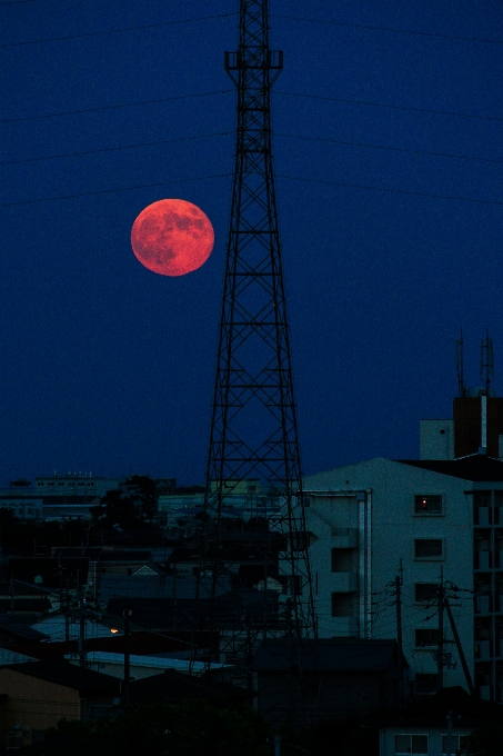
[[(436, 646), (416, 641), (416, 630), (429, 631), (420, 634), (421, 643), (427, 636), (434, 638), (437, 613), (431, 605), (435, 599), (416, 600), (415, 586), (431, 584), (434, 590), (442, 569), (444, 580), (473, 590), (471, 501), (464, 493), (471, 487), (459, 478), (386, 459), (308, 477), (308, 529), (318, 538), (310, 557), (320, 636), (395, 638), (392, 584), (401, 575), (405, 657), (414, 674), (435, 675)], [(419, 495), (441, 496), (442, 514), (416, 514), (414, 497)], [(442, 555), (418, 556), (416, 540), (421, 547), (425, 540), (440, 540)], [(463, 593), (460, 600), (461, 609), (453, 608), (453, 613), (473, 674), (473, 598)], [(455, 669), (444, 670), (444, 685), (466, 687), (446, 617), (444, 624), (445, 651), (456, 663)]]

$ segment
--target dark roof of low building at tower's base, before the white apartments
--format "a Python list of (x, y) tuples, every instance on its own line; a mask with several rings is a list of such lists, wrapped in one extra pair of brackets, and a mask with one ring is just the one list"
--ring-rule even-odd
[[(304, 641), (301, 653), (304, 669), (378, 673), (388, 669), (396, 657), (396, 641), (323, 638), (319, 639), (315, 646), (314, 641), (309, 645)], [(295, 664), (294, 654), (293, 664)], [(284, 670), (291, 665), (286, 643), (266, 640), (259, 646), (252, 669), (255, 672)], [(409, 666), (405, 659), (403, 659), (403, 665)]]

